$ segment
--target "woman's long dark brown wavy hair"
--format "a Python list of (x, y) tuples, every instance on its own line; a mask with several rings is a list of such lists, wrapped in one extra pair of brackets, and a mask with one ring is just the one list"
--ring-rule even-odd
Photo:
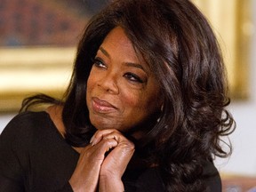
[(85, 100), (87, 79), (100, 44), (117, 26), (155, 72), (164, 96), (160, 119), (135, 141), (137, 151), (159, 165), (166, 191), (203, 191), (202, 164), (230, 155), (231, 145), (221, 138), (234, 131), (235, 122), (225, 109), (228, 86), (219, 44), (188, 0), (113, 1), (85, 28), (65, 100), (43, 100), (64, 106), (68, 143), (88, 144), (95, 128)]

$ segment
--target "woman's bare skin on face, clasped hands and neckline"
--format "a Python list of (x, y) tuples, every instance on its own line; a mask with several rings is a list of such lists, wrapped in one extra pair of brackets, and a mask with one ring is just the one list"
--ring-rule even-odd
[[(95, 57), (87, 82), (86, 102), (91, 123), (98, 131), (80, 153), (69, 183), (75, 192), (124, 191), (121, 180), (134, 153), (124, 137), (159, 108), (159, 88), (148, 65), (138, 57), (132, 42), (117, 27), (109, 32)], [(154, 102), (152, 102), (154, 100)], [(65, 135), (61, 108), (48, 108), (53, 123)], [(135, 132), (135, 137), (140, 137)], [(108, 156), (106, 152), (111, 149)]]

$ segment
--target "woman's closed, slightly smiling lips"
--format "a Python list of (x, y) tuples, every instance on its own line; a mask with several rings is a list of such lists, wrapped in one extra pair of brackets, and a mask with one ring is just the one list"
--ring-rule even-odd
[(98, 113), (108, 113), (117, 108), (106, 100), (100, 100), (97, 97), (92, 98), (92, 109)]

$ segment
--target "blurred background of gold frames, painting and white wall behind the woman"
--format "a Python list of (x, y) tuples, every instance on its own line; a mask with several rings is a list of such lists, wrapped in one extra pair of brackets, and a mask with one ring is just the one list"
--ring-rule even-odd
[[(61, 96), (83, 29), (108, 1), (0, 0), (0, 132), (24, 97), (36, 92)], [(219, 38), (232, 99), (228, 109), (236, 119), (229, 138), (233, 155), (215, 164), (223, 177), (241, 176), (256, 186), (256, 1), (193, 2)]]

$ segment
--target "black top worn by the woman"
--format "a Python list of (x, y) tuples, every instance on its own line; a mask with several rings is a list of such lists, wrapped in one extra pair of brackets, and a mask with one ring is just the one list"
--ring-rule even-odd
[[(0, 192), (71, 192), (68, 180), (79, 154), (63, 139), (46, 112), (15, 116), (0, 135)], [(213, 164), (205, 172), (212, 192), (221, 191), (220, 175)], [(124, 172), (125, 191), (164, 191), (158, 169)]]

